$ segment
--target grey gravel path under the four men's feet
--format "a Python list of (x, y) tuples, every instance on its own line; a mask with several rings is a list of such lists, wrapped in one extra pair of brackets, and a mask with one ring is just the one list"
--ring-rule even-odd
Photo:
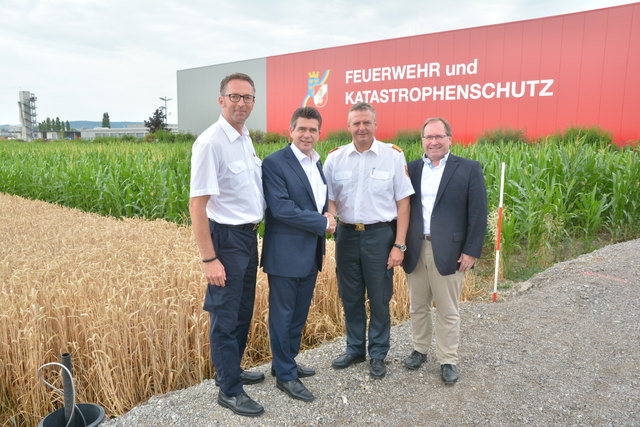
[(412, 350), (405, 322), (391, 331), (382, 380), (367, 363), (331, 368), (342, 338), (298, 357), (318, 371), (303, 380), (314, 402), (287, 397), (267, 374), (246, 387), (264, 415), (240, 417), (215, 403), (207, 380), (103, 425), (640, 425), (638, 253), (640, 240), (607, 246), (534, 276), (504, 302), (464, 303), (455, 386), (440, 381), (431, 352), (417, 371), (402, 366)]

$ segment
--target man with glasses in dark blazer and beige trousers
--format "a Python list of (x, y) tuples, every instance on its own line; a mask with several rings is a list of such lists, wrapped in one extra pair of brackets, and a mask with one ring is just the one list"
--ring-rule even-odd
[(414, 350), (404, 364), (418, 369), (426, 361), (435, 302), (436, 361), (442, 381), (450, 385), (458, 380), (458, 301), (464, 274), (482, 252), (487, 194), (480, 163), (449, 151), (451, 126), (445, 119), (426, 120), (422, 146), (424, 156), (408, 165), (415, 194), (403, 267), (411, 298)]

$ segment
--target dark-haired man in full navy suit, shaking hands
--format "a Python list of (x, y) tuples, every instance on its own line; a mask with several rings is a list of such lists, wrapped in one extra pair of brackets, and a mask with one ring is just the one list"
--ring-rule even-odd
[(315, 371), (298, 365), (295, 357), (322, 268), (325, 233), (336, 226), (327, 213), (327, 184), (313, 149), (321, 125), (318, 110), (298, 108), (291, 118), (292, 144), (262, 163), (267, 210), (261, 264), (269, 280), (271, 373), (280, 390), (306, 402), (314, 397), (299, 378)]

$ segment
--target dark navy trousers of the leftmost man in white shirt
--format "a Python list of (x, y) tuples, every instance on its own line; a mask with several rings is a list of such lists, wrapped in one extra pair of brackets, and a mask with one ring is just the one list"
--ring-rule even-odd
[(242, 393), (240, 362), (253, 316), (258, 272), (255, 231), (212, 223), (216, 256), (224, 265), (225, 286), (207, 285), (204, 309), (209, 312), (209, 345), (220, 390), (229, 396)]

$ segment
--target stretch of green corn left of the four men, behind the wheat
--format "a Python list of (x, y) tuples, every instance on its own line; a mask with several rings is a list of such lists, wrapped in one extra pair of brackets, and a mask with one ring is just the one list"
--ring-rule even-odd
[(0, 192), (116, 218), (188, 222), (190, 144), (0, 143)]

